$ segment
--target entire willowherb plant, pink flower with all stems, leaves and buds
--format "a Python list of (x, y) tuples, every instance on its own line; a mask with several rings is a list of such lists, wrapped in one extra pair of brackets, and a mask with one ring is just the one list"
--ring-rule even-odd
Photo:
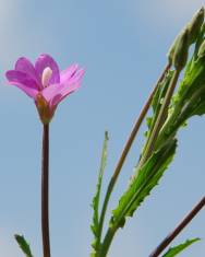
[[(189, 58), (190, 46), (193, 52)], [(184, 69), (183, 74), (181, 73)], [(10, 84), (14, 84), (31, 96), (37, 107), (43, 124), (43, 160), (41, 160), (41, 234), (44, 257), (50, 257), (49, 240), (49, 124), (58, 104), (81, 85), (84, 70), (76, 65), (60, 72), (56, 61), (48, 55), (41, 55), (33, 65), (26, 58), (20, 58), (14, 70), (7, 72)], [(179, 83), (180, 75), (182, 79)], [(146, 117), (152, 109), (152, 116)], [(143, 107), (136, 124), (122, 151), (113, 175), (108, 184), (106, 196), (100, 208), (101, 182), (107, 163), (108, 132), (105, 133), (101, 163), (96, 194), (93, 199), (92, 257), (106, 257), (112, 240), (120, 227), (126, 223), (158, 185), (159, 179), (172, 162), (178, 147), (178, 131), (195, 115), (205, 114), (205, 23), (204, 8), (198, 10), (191, 22), (177, 36), (168, 51), (167, 65), (158, 79), (152, 94)], [(132, 179), (120, 197), (118, 206), (112, 210), (105, 237), (102, 230), (107, 206), (120, 175), (123, 163), (146, 117), (147, 131), (138, 162), (134, 167)], [(149, 257), (159, 256), (171, 241), (189, 224), (205, 206), (205, 197), (188, 213), (188, 215), (154, 249)], [(24, 236), (15, 235), (26, 257), (34, 257)], [(192, 238), (171, 247), (164, 257), (173, 257), (197, 242)]]

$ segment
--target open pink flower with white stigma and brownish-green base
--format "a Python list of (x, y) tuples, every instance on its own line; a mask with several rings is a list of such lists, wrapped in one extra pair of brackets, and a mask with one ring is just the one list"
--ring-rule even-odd
[(34, 66), (22, 57), (16, 61), (14, 70), (5, 73), (10, 84), (34, 98), (43, 124), (48, 124), (58, 104), (80, 87), (83, 74), (84, 70), (77, 65), (60, 72), (49, 55), (40, 55)]

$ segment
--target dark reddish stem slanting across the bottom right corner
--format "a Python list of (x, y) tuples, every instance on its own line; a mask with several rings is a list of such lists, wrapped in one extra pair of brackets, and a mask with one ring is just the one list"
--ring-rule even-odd
[(205, 197), (188, 213), (188, 215), (179, 223), (179, 225), (157, 246), (149, 257), (157, 257), (160, 253), (177, 237), (177, 235), (192, 221), (192, 219), (205, 206)]

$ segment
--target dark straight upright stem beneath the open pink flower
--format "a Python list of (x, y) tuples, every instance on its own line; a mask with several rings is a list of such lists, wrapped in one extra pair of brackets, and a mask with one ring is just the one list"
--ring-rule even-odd
[(41, 233), (44, 257), (50, 257), (49, 240), (49, 125), (44, 125), (41, 163)]

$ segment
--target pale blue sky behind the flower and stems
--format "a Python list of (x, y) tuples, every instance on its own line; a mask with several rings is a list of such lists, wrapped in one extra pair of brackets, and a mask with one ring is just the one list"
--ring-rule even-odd
[[(48, 52), (61, 69), (79, 62), (82, 89), (59, 107), (50, 126), (50, 232), (52, 257), (88, 256), (91, 201), (105, 129), (109, 130), (108, 182), (132, 125), (166, 63), (179, 30), (201, 0), (0, 0), (0, 257), (22, 257), (22, 233), (41, 256), (41, 125), (33, 101), (5, 85), (4, 72), (20, 56)], [(124, 230), (109, 257), (147, 257), (204, 195), (205, 119), (193, 118), (179, 135), (174, 163)], [(109, 209), (123, 192), (143, 137), (129, 155)], [(182, 257), (203, 257), (202, 211), (174, 241), (202, 237)]]

